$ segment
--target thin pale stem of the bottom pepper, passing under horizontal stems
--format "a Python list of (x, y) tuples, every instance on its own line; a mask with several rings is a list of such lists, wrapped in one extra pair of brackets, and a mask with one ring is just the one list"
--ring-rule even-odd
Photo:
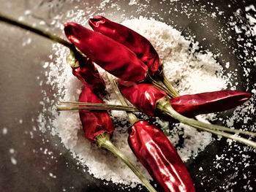
[[(125, 101), (124, 96), (120, 93), (118, 86), (116, 85), (116, 82), (113, 80), (113, 77), (108, 74), (108, 79), (110, 80), (111, 85), (113, 85), (114, 91), (116, 95), (118, 96), (119, 101), (123, 106), (128, 106), (127, 101)], [(133, 125), (138, 121), (138, 118), (132, 113), (132, 112), (127, 112), (128, 118), (129, 118), (129, 123)]]

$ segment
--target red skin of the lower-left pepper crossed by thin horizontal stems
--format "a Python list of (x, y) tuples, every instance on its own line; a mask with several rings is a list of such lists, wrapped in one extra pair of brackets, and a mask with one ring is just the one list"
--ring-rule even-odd
[[(102, 103), (102, 101), (91, 91), (90, 88), (84, 87), (80, 93), (80, 102)], [(81, 105), (83, 106), (83, 105)], [(95, 137), (105, 132), (112, 134), (114, 130), (113, 122), (108, 112), (102, 110), (79, 110), (80, 120), (83, 131), (90, 142), (95, 142)]]

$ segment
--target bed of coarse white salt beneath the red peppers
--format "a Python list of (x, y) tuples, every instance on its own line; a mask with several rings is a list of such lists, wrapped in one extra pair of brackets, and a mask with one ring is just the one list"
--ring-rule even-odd
[[(151, 18), (126, 20), (123, 24), (142, 34), (151, 42), (159, 53), (165, 75), (181, 94), (219, 91), (227, 88), (227, 86), (236, 89), (236, 86), (232, 85), (223, 74), (222, 66), (214, 59), (214, 55), (209, 52), (201, 53), (197, 42), (194, 42), (193, 39), (186, 39), (175, 28)], [(66, 57), (69, 50), (58, 44), (53, 45), (53, 50), (55, 51), (53, 62), (45, 64), (49, 68), (49, 72), (45, 74), (48, 77), (47, 84), (58, 90), (54, 94), (57, 99), (78, 101), (82, 85), (72, 75), (71, 68), (67, 65)], [(103, 98), (105, 103), (120, 104), (105, 71), (100, 67), (98, 69), (107, 85), (107, 95)], [(46, 108), (43, 105), (44, 110), (39, 115), (38, 121), (44, 122), (48, 112), (53, 118), (48, 126), (44, 123), (40, 124), (41, 131), (45, 131), (46, 127), (51, 130), (51, 134), (57, 134), (74, 158), (78, 158), (81, 164), (88, 167), (89, 173), (93, 174), (94, 177), (127, 185), (140, 183), (127, 166), (112, 153), (99, 150), (96, 145), (85, 139), (77, 111), (56, 112), (56, 103), (49, 101), (45, 91), (43, 93), (45, 94), (44, 102), (50, 104), (50, 107)], [(138, 115), (140, 118), (148, 119), (146, 115)], [(146, 177), (150, 178), (127, 145), (127, 126), (129, 124), (127, 115), (125, 112), (111, 111), (110, 116), (115, 124), (113, 144), (127, 155)], [(216, 117), (216, 114), (208, 114), (200, 115), (198, 118), (208, 122), (215, 120)], [(176, 147), (184, 161), (196, 156), (213, 140), (208, 132), (199, 132), (195, 128), (181, 123), (170, 124), (157, 118), (154, 123), (164, 128), (173, 145), (177, 145), (181, 137), (184, 139), (182, 145)], [(173, 127), (167, 131), (169, 129), (166, 128), (169, 126)]]

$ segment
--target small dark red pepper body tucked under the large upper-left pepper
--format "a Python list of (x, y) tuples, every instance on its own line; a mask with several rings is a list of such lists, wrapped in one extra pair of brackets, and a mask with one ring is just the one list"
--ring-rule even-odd
[(105, 82), (89, 58), (81, 58), (78, 67), (72, 67), (72, 74), (94, 93), (105, 91)]

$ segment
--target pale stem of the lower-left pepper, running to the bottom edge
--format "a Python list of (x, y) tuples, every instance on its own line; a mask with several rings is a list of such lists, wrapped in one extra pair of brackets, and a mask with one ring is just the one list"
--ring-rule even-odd
[(113, 145), (112, 142), (110, 142), (110, 134), (108, 133), (104, 133), (104, 134), (99, 134), (96, 137), (96, 142), (97, 142), (97, 146), (100, 148), (105, 148), (107, 150), (110, 150), (114, 155), (116, 155), (118, 158), (121, 158), (121, 161), (124, 162), (124, 164), (127, 164), (127, 166), (129, 166), (129, 169), (132, 170), (132, 172), (134, 172), (136, 174), (136, 176), (142, 181), (142, 183), (146, 186), (146, 188), (148, 189), (148, 191), (151, 192), (157, 192), (152, 185), (148, 182), (148, 180), (146, 179), (146, 177), (144, 177), (143, 174), (140, 173), (140, 171), (129, 161), (129, 159), (123, 154), (121, 153), (120, 150), (118, 150), (118, 148), (115, 147), (115, 145)]

